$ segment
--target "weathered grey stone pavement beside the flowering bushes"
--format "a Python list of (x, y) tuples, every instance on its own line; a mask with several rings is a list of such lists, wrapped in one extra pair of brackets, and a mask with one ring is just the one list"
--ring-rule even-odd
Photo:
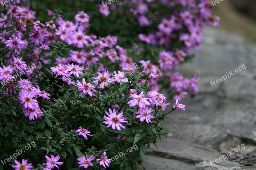
[[(215, 81), (241, 65), (232, 77)], [(216, 28), (204, 29), (201, 52), (180, 66), (188, 78), (198, 75), (199, 94), (182, 100), (186, 111), (170, 115), (167, 139), (147, 151), (148, 169), (256, 170), (256, 45)], [(174, 103), (174, 101), (169, 101)], [(211, 166), (210, 160), (244, 144), (245, 149)]]

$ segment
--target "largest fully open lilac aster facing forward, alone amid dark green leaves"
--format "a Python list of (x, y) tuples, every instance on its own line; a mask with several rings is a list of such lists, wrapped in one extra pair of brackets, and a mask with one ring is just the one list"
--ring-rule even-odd
[(116, 128), (118, 130), (121, 130), (121, 128), (125, 129), (125, 126), (123, 126), (121, 124), (121, 123), (128, 123), (126, 121), (126, 118), (123, 115), (124, 112), (121, 112), (118, 115), (116, 115), (115, 109), (113, 111), (111, 109), (108, 109), (108, 111), (110, 114), (108, 114), (108, 112), (105, 111), (105, 113), (106, 113), (106, 115), (108, 115), (108, 117), (104, 115), (103, 119), (105, 121), (103, 121), (103, 123), (107, 124), (108, 128), (111, 126), (113, 130), (115, 130)]

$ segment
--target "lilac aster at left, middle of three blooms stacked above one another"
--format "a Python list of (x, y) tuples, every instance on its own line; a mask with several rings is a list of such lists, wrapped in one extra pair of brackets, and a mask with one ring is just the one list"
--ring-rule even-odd
[(34, 109), (35, 106), (38, 106), (37, 100), (36, 99), (32, 99), (35, 96), (35, 94), (33, 92), (28, 92), (25, 89), (22, 89), (19, 92), (19, 99), (20, 99), (20, 103), (24, 104), (24, 108), (31, 108)]

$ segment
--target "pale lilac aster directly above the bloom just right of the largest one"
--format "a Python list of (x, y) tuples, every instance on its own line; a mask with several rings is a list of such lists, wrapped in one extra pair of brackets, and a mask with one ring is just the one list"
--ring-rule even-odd
[(131, 94), (129, 98), (133, 99), (129, 101), (127, 104), (129, 104), (130, 107), (134, 107), (136, 105), (139, 105), (140, 108), (145, 108), (147, 105), (150, 105), (150, 103), (147, 101), (149, 98), (144, 98), (145, 94), (142, 91), (139, 95), (137, 94)]

